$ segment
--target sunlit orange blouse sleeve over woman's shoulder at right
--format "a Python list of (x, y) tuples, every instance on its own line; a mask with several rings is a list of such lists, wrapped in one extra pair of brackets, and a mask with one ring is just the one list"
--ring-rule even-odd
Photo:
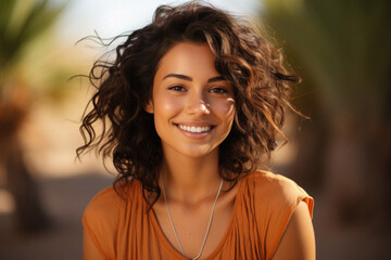
[(305, 202), (312, 218), (314, 199), (290, 179), (269, 172), (256, 185), (258, 230), (266, 259), (272, 259), (298, 205)]

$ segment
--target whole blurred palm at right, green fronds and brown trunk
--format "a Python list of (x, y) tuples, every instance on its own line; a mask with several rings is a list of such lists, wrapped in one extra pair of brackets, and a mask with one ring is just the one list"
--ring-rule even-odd
[(302, 125), (292, 174), (308, 190), (321, 188), (339, 220), (389, 218), (391, 1), (263, 5), (263, 18), (303, 77), (294, 102), (312, 117)]

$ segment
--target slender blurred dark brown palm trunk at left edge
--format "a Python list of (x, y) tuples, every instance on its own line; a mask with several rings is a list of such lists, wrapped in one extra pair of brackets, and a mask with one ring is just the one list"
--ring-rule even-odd
[(9, 99), (0, 99), (0, 167), (4, 168), (5, 187), (15, 200), (16, 222), (22, 232), (40, 231), (49, 224), (18, 139), (29, 103), (29, 96), (17, 90)]

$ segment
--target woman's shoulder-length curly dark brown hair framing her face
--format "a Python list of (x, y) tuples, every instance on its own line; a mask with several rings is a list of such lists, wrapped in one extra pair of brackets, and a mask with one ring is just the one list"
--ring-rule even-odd
[[(235, 89), (235, 122), (219, 148), (222, 178), (235, 185), (240, 176), (270, 157), (277, 134), (283, 135), (285, 109), (290, 106), (288, 83), (298, 78), (287, 73), (279, 50), (255, 26), (211, 4), (192, 1), (157, 8), (151, 24), (126, 37), (115, 49), (115, 60), (97, 61), (89, 74), (97, 92), (80, 127), (85, 144), (77, 148), (78, 157), (97, 148), (103, 159), (113, 158), (118, 171), (115, 188), (137, 179), (152, 195), (152, 200), (144, 195), (150, 205), (161, 194), (162, 144), (153, 115), (144, 107), (152, 96), (160, 60), (178, 42), (207, 43), (216, 70)], [(97, 121), (103, 125), (99, 135), (93, 128)]]

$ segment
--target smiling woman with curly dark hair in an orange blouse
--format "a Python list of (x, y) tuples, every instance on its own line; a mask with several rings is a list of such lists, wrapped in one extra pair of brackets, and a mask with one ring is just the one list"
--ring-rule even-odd
[(160, 6), (90, 79), (78, 155), (98, 147), (118, 177), (86, 208), (85, 259), (315, 259), (313, 199), (256, 170), (297, 79), (248, 23)]

